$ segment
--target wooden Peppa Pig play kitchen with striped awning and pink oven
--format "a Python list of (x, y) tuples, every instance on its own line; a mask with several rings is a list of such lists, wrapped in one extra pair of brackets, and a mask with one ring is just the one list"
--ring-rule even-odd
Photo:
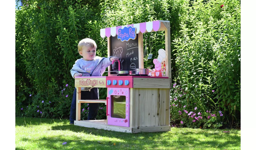
[[(154, 71), (144, 69), (143, 33), (165, 31), (165, 50), (158, 50)], [(108, 76), (75, 77), (75, 125), (117, 132), (170, 131), (171, 49), (170, 22), (151, 21), (103, 28), (108, 57), (118, 61), (108, 67)], [(151, 50), (150, 50), (151, 51)], [(81, 100), (81, 87), (107, 88), (106, 100)], [(106, 120), (80, 120), (81, 103), (105, 103)]]

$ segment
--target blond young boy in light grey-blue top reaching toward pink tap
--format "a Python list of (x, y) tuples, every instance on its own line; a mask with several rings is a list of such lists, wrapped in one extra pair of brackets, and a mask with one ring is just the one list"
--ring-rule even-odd
[[(82, 39), (78, 43), (78, 53), (82, 58), (75, 61), (70, 73), (73, 78), (76, 76), (102, 76), (106, 68), (111, 65), (112, 61), (117, 61), (117, 57), (98, 57), (96, 56), (97, 45), (90, 38)], [(98, 100), (98, 88), (81, 88), (82, 100)], [(97, 116), (99, 103), (89, 103), (89, 114), (87, 120), (93, 120)], [(76, 88), (70, 108), (70, 124), (74, 124), (76, 119)]]

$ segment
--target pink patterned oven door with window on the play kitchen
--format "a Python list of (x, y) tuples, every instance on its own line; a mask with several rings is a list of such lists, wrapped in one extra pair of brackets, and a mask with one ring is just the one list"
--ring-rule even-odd
[(129, 88), (108, 88), (107, 124), (129, 127), (130, 90)]

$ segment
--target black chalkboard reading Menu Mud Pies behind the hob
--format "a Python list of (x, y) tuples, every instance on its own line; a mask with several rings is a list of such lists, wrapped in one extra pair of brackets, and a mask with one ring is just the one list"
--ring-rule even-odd
[[(139, 68), (139, 47), (138, 34), (136, 39), (121, 41), (117, 36), (110, 37), (110, 55), (116, 56), (120, 60), (120, 70), (134, 70)], [(118, 70), (118, 62), (111, 65), (111, 71)], [(111, 73), (116, 74), (116, 73)]]

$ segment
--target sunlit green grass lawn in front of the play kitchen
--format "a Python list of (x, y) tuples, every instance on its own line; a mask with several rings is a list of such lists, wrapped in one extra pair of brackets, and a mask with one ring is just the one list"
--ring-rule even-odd
[(241, 132), (235, 129), (171, 128), (169, 132), (132, 134), (69, 125), (67, 119), (15, 120), (16, 150), (241, 149)]

